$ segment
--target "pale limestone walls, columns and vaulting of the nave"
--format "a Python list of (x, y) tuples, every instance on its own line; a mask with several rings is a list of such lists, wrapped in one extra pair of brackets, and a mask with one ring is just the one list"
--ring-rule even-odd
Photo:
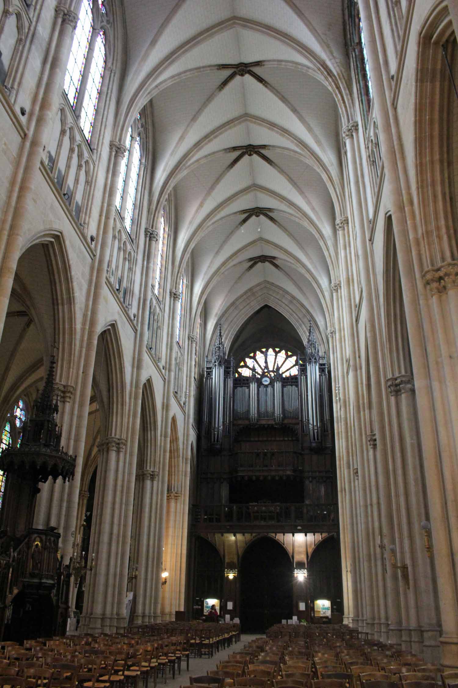
[(0, 0), (0, 420), (55, 350), (81, 629), (189, 612), (205, 355), (268, 305), (332, 369), (345, 623), (458, 667), (458, 0), (84, 2), (71, 103), (81, 0)]

